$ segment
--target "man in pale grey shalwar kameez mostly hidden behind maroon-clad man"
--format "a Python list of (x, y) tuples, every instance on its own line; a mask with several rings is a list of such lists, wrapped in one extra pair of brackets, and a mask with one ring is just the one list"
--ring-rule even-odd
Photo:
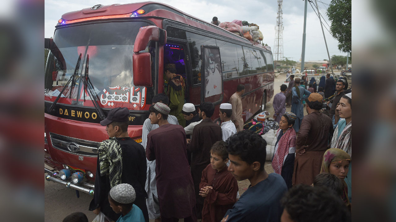
[[(160, 94), (155, 95), (152, 98), (152, 104), (155, 104), (157, 102), (162, 102), (162, 103), (168, 104), (169, 98), (164, 93), (160, 93)], [(170, 124), (179, 125), (177, 118), (172, 115), (168, 115), (168, 122)], [(145, 120), (145, 122), (143, 123), (142, 146), (145, 148), (145, 150), (146, 150), (146, 145), (147, 145), (148, 133), (150, 133), (152, 130), (155, 130), (158, 127), (160, 127), (160, 126), (158, 126), (158, 124), (151, 124), (150, 118), (147, 118)], [(145, 190), (148, 195), (148, 198), (146, 199), (148, 218), (150, 218), (151, 220), (155, 220), (155, 222), (157, 222), (157, 221), (160, 221), (161, 214), (160, 214), (160, 205), (158, 205), (157, 185), (156, 185), (156, 180), (155, 180), (155, 160), (153, 160), (153, 161), (147, 160), (147, 172), (146, 173), (147, 173), (147, 179), (146, 179)]]

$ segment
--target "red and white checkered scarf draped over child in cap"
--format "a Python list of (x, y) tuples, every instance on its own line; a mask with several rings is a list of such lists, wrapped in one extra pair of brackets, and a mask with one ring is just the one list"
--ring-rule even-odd
[[(281, 129), (278, 129), (276, 132), (276, 137), (278, 137)], [(272, 159), (272, 168), (274, 168), (274, 172), (281, 174), (282, 166), (284, 158), (287, 154), (289, 154), (289, 148), (296, 146), (296, 132), (293, 127), (290, 127), (285, 134), (280, 137), (278, 142), (278, 149), (274, 154), (274, 158)], [(294, 154), (291, 154), (294, 155)]]

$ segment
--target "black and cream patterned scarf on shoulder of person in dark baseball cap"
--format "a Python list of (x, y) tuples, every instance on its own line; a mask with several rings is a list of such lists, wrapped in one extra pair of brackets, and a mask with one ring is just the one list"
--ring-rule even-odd
[(116, 137), (99, 143), (98, 158), (101, 176), (109, 176), (110, 188), (121, 183), (122, 150)]

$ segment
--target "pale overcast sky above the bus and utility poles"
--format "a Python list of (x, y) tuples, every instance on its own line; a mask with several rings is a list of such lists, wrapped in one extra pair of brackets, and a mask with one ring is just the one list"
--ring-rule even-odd
[[(141, 2), (141, 0), (45, 0), (45, 34), (46, 38), (53, 36), (55, 25), (64, 13), (69, 11), (91, 8), (96, 4), (127, 4)], [(278, 3), (276, 0), (159, 0), (174, 8), (184, 11), (194, 17), (210, 22), (213, 16), (217, 16), (219, 21), (232, 21), (234, 19), (248, 21), (259, 25), (264, 35), (263, 43), (267, 43), (274, 51), (276, 13)], [(243, 2), (243, 4), (241, 4)], [(322, 3), (323, 2), (323, 3)], [(318, 1), (319, 11), (325, 18), (326, 8), (330, 0)], [(314, 4), (315, 10), (316, 7)], [(211, 10), (208, 10), (211, 9)], [(302, 0), (284, 0), (283, 1), (283, 51), (284, 57), (298, 61), (301, 58), (303, 25), (304, 25), (304, 1)], [(330, 29), (323, 21), (324, 27)], [(346, 55), (338, 50), (338, 41), (335, 40), (326, 28), (326, 35), (329, 54)], [(318, 16), (311, 8), (309, 2), (307, 6), (307, 31), (305, 61), (327, 59), (326, 45), (324, 43), (322, 29)]]

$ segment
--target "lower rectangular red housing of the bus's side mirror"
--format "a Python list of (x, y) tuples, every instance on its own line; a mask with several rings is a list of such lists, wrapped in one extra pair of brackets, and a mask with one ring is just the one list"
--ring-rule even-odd
[(150, 53), (133, 53), (133, 85), (152, 87)]

